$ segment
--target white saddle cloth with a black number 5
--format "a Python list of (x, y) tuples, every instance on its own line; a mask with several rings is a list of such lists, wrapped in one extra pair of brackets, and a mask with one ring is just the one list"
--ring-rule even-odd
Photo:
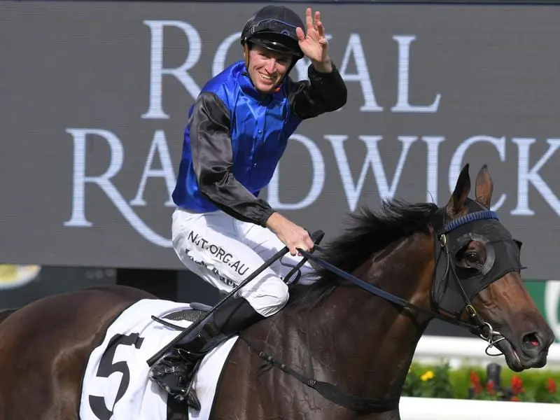
[[(168, 419), (168, 394), (148, 379), (146, 360), (180, 331), (153, 321), (151, 316), (164, 318), (185, 309), (191, 309), (190, 304), (140, 300), (111, 323), (87, 361), (80, 398), (81, 420)], [(185, 320), (169, 322), (190, 325)], [(216, 384), (236, 340), (237, 336), (223, 342), (202, 360), (194, 379), (202, 408), (200, 412), (188, 408), (189, 420), (209, 419)]]

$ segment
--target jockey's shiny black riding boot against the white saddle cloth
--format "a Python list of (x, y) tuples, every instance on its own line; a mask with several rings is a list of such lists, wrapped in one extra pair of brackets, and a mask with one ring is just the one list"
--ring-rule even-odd
[(216, 344), (263, 318), (242, 297), (226, 300), (203, 325), (190, 331), (154, 363), (150, 371), (151, 379), (176, 400), (186, 400), (190, 407), (200, 409), (200, 402), (191, 386), (197, 363)]

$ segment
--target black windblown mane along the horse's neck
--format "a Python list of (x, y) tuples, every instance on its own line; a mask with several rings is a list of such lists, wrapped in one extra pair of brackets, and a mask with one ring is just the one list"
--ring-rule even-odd
[[(345, 272), (353, 272), (367, 258), (393, 241), (416, 232), (428, 233), (437, 209), (433, 203), (410, 204), (402, 200), (384, 201), (378, 212), (360, 207), (355, 213), (348, 214), (342, 234), (322, 246), (321, 252), (315, 251), (314, 255)], [(309, 286), (290, 286), (290, 294), (293, 295), (290, 304), (301, 304), (302, 307), (314, 305), (339, 280), (328, 269), (311, 260), (309, 262), (315, 269), (310, 275), (318, 279)]]

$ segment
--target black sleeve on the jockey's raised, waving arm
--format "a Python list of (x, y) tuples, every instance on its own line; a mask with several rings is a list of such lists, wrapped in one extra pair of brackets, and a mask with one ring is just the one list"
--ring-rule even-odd
[(334, 63), (330, 73), (316, 71), (311, 64), (307, 74), (309, 80), (291, 82), (288, 87), (288, 99), (296, 116), (302, 119), (313, 118), (325, 112), (336, 111), (346, 104), (346, 84)]

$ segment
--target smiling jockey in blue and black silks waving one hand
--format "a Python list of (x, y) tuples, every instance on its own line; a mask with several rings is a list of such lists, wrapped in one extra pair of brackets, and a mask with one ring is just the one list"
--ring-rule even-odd
[[(285, 255), (226, 300), (200, 328), (167, 351), (150, 377), (178, 400), (197, 407), (190, 387), (197, 361), (221, 337), (276, 314), (288, 301), (283, 277), (311, 250), (306, 230), (258, 198), (288, 138), (307, 118), (346, 103), (346, 85), (328, 57), (321, 15), (265, 6), (242, 33), (244, 60), (209, 80), (190, 108), (179, 176), (172, 242), (188, 269), (229, 292), (284, 246)], [(309, 80), (288, 73), (302, 57)], [(311, 272), (306, 263), (302, 272)]]

